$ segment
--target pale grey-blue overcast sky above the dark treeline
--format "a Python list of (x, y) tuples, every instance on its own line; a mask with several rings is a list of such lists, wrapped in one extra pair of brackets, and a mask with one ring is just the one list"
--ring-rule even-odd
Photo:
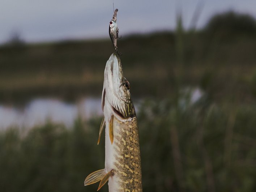
[[(227, 10), (256, 18), (256, 0), (114, 0), (119, 34), (173, 30), (177, 10), (188, 28), (199, 1), (203, 6), (197, 28)], [(113, 0), (1, 0), (0, 43), (13, 33), (26, 42), (106, 38), (112, 16)]]

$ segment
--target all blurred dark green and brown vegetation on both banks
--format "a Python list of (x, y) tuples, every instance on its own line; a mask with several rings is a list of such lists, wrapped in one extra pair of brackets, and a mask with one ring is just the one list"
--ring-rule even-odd
[[(230, 12), (201, 31), (184, 31), (180, 19), (176, 31), (120, 39), (132, 95), (145, 98), (137, 111), (144, 191), (256, 191), (255, 28)], [(3, 46), (0, 99), (101, 95), (111, 50), (109, 40)], [(196, 102), (184, 91), (193, 87), (204, 93)], [(1, 131), (1, 191), (96, 191), (83, 182), (104, 167), (100, 123)]]

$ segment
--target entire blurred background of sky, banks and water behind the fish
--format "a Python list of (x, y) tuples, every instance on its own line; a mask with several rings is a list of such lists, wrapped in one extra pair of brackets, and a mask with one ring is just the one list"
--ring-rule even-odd
[[(1, 1), (1, 192), (97, 190), (112, 3)], [(114, 3), (144, 191), (256, 191), (256, 1)]]

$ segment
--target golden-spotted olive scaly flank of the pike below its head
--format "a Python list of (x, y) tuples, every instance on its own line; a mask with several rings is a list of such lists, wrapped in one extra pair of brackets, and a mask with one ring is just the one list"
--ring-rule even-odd
[[(117, 192), (141, 192), (141, 158), (137, 118), (121, 122), (114, 117), (114, 172), (119, 181)], [(115, 176), (114, 175), (114, 176)]]

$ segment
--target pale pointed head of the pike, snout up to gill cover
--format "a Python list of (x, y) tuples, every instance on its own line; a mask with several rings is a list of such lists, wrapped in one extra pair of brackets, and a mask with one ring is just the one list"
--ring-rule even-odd
[[(103, 111), (110, 111), (121, 121), (133, 118), (136, 114), (129, 89), (130, 84), (124, 77), (120, 58), (113, 53), (108, 59), (104, 71)], [(106, 110), (105, 107), (107, 107)]]

